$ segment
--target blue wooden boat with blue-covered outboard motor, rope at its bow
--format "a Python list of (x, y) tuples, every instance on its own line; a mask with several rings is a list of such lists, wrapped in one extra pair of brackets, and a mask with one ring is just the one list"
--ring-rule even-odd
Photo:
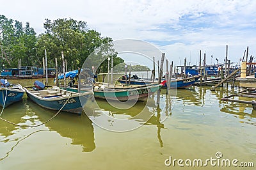
[[(85, 104), (88, 98), (93, 95), (92, 91), (76, 93), (56, 86), (47, 86), (47, 89), (45, 89), (44, 84), (39, 81), (35, 81), (35, 85), (36, 88), (24, 88), (28, 97), (36, 104), (56, 111), (59, 111), (65, 105), (61, 111), (81, 114), (83, 111), (82, 104)], [(81, 98), (83, 98), (82, 102)]]

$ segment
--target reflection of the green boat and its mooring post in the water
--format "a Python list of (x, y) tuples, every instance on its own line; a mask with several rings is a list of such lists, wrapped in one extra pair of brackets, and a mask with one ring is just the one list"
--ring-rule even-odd
[[(86, 114), (92, 119), (100, 119), (104, 117), (104, 114), (109, 116), (108, 124), (109, 127), (120, 126), (116, 123), (117, 120), (126, 120), (128, 123), (138, 123), (140, 125), (156, 125), (157, 127), (157, 139), (159, 144), (163, 147), (163, 141), (161, 139), (161, 128), (164, 128), (164, 124), (161, 123), (161, 111), (159, 107), (156, 106), (154, 102), (154, 97), (148, 98), (148, 104), (146, 106), (145, 102), (137, 102), (133, 107), (129, 109), (121, 109), (113, 107), (108, 104), (106, 100), (97, 100), (97, 105), (92, 107), (86, 107)], [(122, 104), (120, 105), (122, 107)], [(149, 119), (148, 119), (149, 118)], [(147, 119), (147, 120), (146, 120)], [(102, 120), (103, 121), (103, 120)], [(122, 126), (125, 126), (124, 124)]]

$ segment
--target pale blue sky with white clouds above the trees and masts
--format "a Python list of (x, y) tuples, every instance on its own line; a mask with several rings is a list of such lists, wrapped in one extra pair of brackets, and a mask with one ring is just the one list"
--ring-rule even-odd
[[(45, 19), (72, 18), (113, 40), (134, 38), (158, 47), (177, 65), (187, 58), (198, 63), (199, 50), (207, 64), (215, 58), (238, 62), (249, 47), (256, 52), (256, 1), (2, 1), (0, 14), (29, 22), (44, 32)], [(213, 58), (211, 59), (211, 55)]]

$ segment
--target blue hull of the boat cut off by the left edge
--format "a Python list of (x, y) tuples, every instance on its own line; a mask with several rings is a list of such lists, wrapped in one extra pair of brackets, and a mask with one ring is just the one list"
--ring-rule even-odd
[[(1, 107), (8, 107), (8, 105), (11, 105), (15, 102), (19, 102), (22, 100), (22, 97), (24, 95), (24, 89), (22, 89), (22, 86), (17, 85), (16, 88), (1, 88), (0, 89), (0, 105)], [(7, 95), (6, 95), (6, 89), (7, 89)], [(6, 99), (5, 99), (6, 98)], [(5, 104), (4, 104), (4, 100)]]

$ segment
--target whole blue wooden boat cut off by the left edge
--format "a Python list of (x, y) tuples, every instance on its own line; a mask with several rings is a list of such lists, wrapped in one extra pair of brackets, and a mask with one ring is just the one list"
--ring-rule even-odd
[(0, 105), (1, 107), (7, 107), (22, 100), (24, 95), (24, 89), (20, 84), (10, 84), (7, 80), (0, 80)]

